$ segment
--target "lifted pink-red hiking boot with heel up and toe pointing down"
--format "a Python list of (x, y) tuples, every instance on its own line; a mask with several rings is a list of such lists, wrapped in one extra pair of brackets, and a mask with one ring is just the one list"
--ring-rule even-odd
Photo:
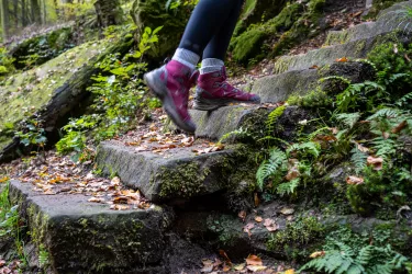
[(194, 133), (196, 125), (188, 112), (189, 90), (199, 76), (192, 70), (171, 60), (159, 69), (144, 76), (146, 84), (162, 100), (163, 107), (170, 119), (181, 129)]

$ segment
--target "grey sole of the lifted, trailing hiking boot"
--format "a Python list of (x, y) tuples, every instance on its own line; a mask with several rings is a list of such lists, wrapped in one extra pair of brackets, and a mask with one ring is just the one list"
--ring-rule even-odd
[(162, 101), (163, 109), (165, 110), (167, 115), (170, 117), (170, 119), (179, 128), (183, 129), (185, 132), (194, 133), (196, 127), (188, 125), (180, 118), (180, 115), (178, 114), (176, 110), (174, 100), (169, 95), (169, 91), (164, 84), (158, 84), (160, 80), (155, 78), (154, 72), (148, 72), (144, 75), (143, 79), (145, 83), (147, 84), (147, 87), (152, 90), (152, 92)]

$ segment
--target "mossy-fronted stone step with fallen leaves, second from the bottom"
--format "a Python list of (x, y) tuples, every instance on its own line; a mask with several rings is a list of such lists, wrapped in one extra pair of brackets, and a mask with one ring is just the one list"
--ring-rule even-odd
[[(196, 147), (176, 148), (168, 155), (136, 152), (120, 141), (99, 146), (97, 164), (104, 174), (116, 174), (123, 184), (138, 189), (152, 202), (176, 202), (254, 182), (255, 168), (241, 146), (197, 155)], [(236, 169), (236, 173), (233, 172)]]

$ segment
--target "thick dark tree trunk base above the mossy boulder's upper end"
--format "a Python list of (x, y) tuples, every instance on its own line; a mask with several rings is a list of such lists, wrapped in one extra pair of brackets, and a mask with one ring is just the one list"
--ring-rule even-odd
[(122, 8), (119, 0), (97, 0), (94, 9), (100, 28), (122, 23)]

